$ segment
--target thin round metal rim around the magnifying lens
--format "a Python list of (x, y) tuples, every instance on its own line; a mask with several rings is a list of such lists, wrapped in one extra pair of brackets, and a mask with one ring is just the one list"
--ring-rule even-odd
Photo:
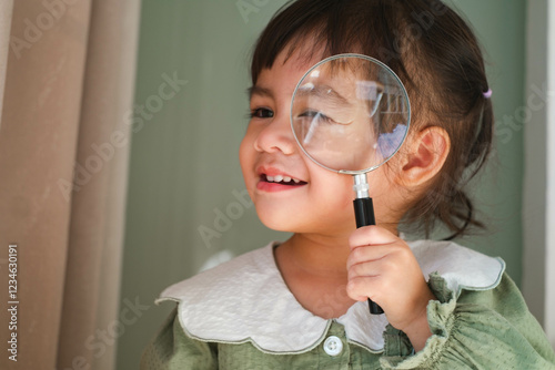
[[(407, 119), (406, 119), (406, 130), (405, 130), (405, 134), (403, 135), (403, 140), (401, 141), (401, 143), (398, 144), (398, 146), (395, 148), (395, 151), (389, 156), (386, 157), (383, 162), (381, 162), (380, 164), (377, 165), (374, 165), (374, 166), (371, 166), (371, 167), (367, 167), (367, 168), (364, 168), (364, 169), (336, 169), (336, 168), (331, 168), (322, 163), (320, 163), (317, 160), (315, 160), (309, 152), (306, 152), (306, 150), (304, 148), (304, 146), (301, 144), (301, 142), (299, 141), (299, 137), (296, 137), (296, 132), (295, 132), (295, 127), (293, 125), (293, 106), (294, 106), (294, 102), (295, 102), (295, 96), (296, 96), (296, 92), (299, 91), (299, 88), (301, 86), (301, 84), (303, 83), (304, 79), (312, 72), (314, 71), (316, 68), (319, 68), (320, 65), (324, 64), (324, 63), (327, 63), (330, 61), (333, 61), (333, 60), (336, 60), (336, 59), (343, 59), (343, 58), (359, 58), (359, 59), (364, 59), (369, 62), (372, 62), (372, 63), (375, 63), (380, 66), (382, 66), (384, 70), (386, 70), (393, 78), (394, 80), (401, 85), (402, 91), (404, 92), (404, 97), (406, 99), (406, 107), (407, 107)], [(377, 167), (380, 167), (381, 165), (383, 165), (384, 163), (386, 163), (387, 161), (390, 161), (391, 157), (393, 157), (397, 152), (398, 150), (401, 148), (401, 146), (403, 145), (403, 143), (405, 142), (405, 138), (408, 134), (408, 129), (411, 126), (411, 101), (408, 99), (408, 93), (406, 92), (406, 89), (403, 84), (403, 82), (401, 81), (401, 79), (397, 76), (397, 74), (395, 72), (393, 72), (393, 70), (391, 68), (387, 66), (387, 64), (379, 61), (377, 59), (375, 58), (372, 58), (372, 56), (369, 56), (369, 55), (364, 55), (364, 54), (357, 54), (357, 53), (344, 53), (344, 54), (335, 54), (335, 55), (332, 55), (332, 56), (327, 56), (323, 60), (321, 60), (320, 62), (317, 62), (316, 64), (312, 65), (304, 74), (303, 76), (301, 78), (301, 80), (299, 80), (299, 83), (296, 84), (295, 86), (295, 90), (293, 91), (293, 97), (291, 97), (291, 112), (290, 112), (290, 123), (291, 123), (291, 131), (293, 132), (293, 136), (295, 137), (295, 141), (296, 143), (299, 144), (299, 147), (303, 151), (303, 153), (312, 161), (314, 162), (315, 164), (317, 164), (319, 166), (325, 168), (325, 169), (329, 169), (329, 171), (332, 171), (332, 172), (336, 172), (336, 173), (340, 173), (340, 174), (347, 174), (347, 175), (360, 175), (360, 174), (365, 174), (367, 172), (371, 172), (371, 171), (374, 171), (376, 169)]]

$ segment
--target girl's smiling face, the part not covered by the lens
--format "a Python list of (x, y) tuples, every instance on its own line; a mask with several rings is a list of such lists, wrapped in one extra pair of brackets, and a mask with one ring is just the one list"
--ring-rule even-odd
[[(253, 86), (253, 117), (241, 143), (240, 161), (246, 189), (260, 219), (272, 229), (292, 233), (346, 235), (355, 228), (353, 178), (313, 163), (300, 150), (291, 130), (291, 99), (299, 80), (313, 64), (282, 52), (272, 69), (263, 70)], [(377, 220), (386, 214), (384, 194), (392, 184), (383, 169), (369, 175)], [(391, 193), (390, 193), (391, 194)]]

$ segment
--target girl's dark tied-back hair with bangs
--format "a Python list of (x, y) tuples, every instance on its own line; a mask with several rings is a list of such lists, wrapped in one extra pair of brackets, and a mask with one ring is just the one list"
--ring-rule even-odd
[[(310, 43), (306, 39), (310, 38)], [(312, 48), (306, 49), (306, 45)], [(302, 48), (301, 48), (302, 47)], [(386, 63), (403, 81), (412, 105), (412, 125), (441, 126), (451, 152), (427, 192), (403, 224), (423, 228), (436, 220), (453, 235), (477, 222), (464, 191), (491, 152), (493, 109), (484, 61), (466, 22), (440, 0), (297, 0), (282, 8), (260, 35), (251, 65), (253, 85), (284, 51), (307, 59), (357, 52)]]

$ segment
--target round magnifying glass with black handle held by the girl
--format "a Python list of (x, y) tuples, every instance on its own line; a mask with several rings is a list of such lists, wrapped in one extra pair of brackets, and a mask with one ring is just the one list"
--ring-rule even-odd
[[(411, 121), (408, 95), (384, 63), (337, 54), (313, 65), (293, 93), (291, 126), (300, 147), (320, 166), (354, 178), (356, 227), (375, 225), (366, 173), (401, 147)], [(370, 312), (383, 314), (369, 298)]]

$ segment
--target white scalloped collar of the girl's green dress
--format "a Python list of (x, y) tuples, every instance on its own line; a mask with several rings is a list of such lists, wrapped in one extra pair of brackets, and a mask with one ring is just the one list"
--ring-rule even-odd
[[(458, 296), (462, 289), (493, 289), (505, 263), (448, 241), (407, 241), (424, 276), (438, 273)], [(202, 341), (251, 341), (269, 353), (310, 351), (323, 340), (332, 320), (304, 309), (287, 289), (271, 243), (167, 288), (157, 300), (179, 302), (184, 331)], [(350, 342), (383, 351), (385, 315), (370, 315), (366, 302), (354, 304), (334, 319)]]

